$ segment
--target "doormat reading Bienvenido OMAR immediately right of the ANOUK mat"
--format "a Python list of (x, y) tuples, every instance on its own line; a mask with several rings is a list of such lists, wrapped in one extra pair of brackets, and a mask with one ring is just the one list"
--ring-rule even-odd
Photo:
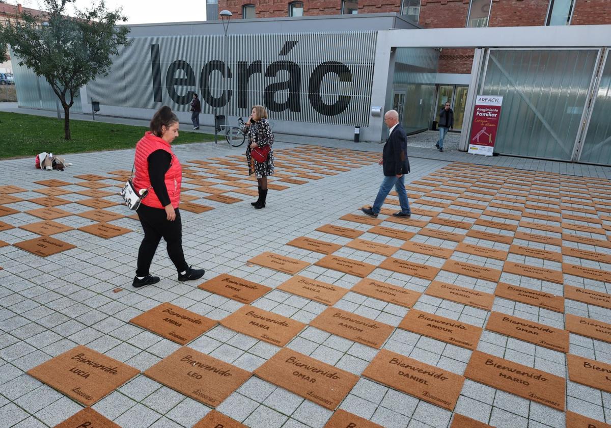
[(490, 312), (486, 330), (505, 334), (558, 352), (569, 352), (569, 332), (549, 325), (514, 317), (500, 312)]

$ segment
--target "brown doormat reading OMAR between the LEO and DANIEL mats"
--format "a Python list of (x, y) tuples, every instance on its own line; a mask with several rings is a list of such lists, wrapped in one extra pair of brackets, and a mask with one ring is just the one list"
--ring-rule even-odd
[(280, 349), (254, 373), (329, 410), (335, 410), (359, 380), (357, 375), (288, 348)]

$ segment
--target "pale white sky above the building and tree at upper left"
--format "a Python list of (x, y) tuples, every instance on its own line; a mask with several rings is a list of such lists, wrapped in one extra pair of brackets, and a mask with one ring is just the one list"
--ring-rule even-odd
[[(76, 0), (76, 7), (86, 9), (93, 0)], [(8, 0), (9, 4), (21, 3), (31, 9), (42, 9), (40, 0)], [(107, 9), (123, 7), (127, 24), (166, 23), (181, 21), (205, 21), (205, 0), (106, 0)]]

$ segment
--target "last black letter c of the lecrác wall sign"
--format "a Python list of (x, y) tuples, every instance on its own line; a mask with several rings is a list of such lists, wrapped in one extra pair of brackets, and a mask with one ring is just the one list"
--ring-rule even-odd
[(348, 108), (351, 97), (350, 95), (340, 95), (333, 104), (326, 104), (323, 101), (320, 95), (320, 87), (323, 79), (329, 73), (337, 75), (340, 82), (352, 82), (352, 72), (345, 64), (337, 61), (323, 62), (323, 64), (318, 65), (314, 69), (312, 76), (310, 76), (308, 97), (313, 109), (318, 111), (318, 113), (324, 116), (337, 116)]

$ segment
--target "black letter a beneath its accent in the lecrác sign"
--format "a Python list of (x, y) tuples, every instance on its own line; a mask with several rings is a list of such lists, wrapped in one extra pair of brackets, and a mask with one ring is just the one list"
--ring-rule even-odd
[[(288, 78), (284, 82), (271, 83), (263, 92), (263, 101), (270, 111), (301, 111), (299, 106), (299, 86), (301, 85), (301, 68), (293, 61), (276, 61), (269, 64), (265, 70), (265, 77), (276, 77), (282, 70), (288, 72)], [(276, 101), (276, 92), (288, 89), (287, 99), (283, 102)]]

